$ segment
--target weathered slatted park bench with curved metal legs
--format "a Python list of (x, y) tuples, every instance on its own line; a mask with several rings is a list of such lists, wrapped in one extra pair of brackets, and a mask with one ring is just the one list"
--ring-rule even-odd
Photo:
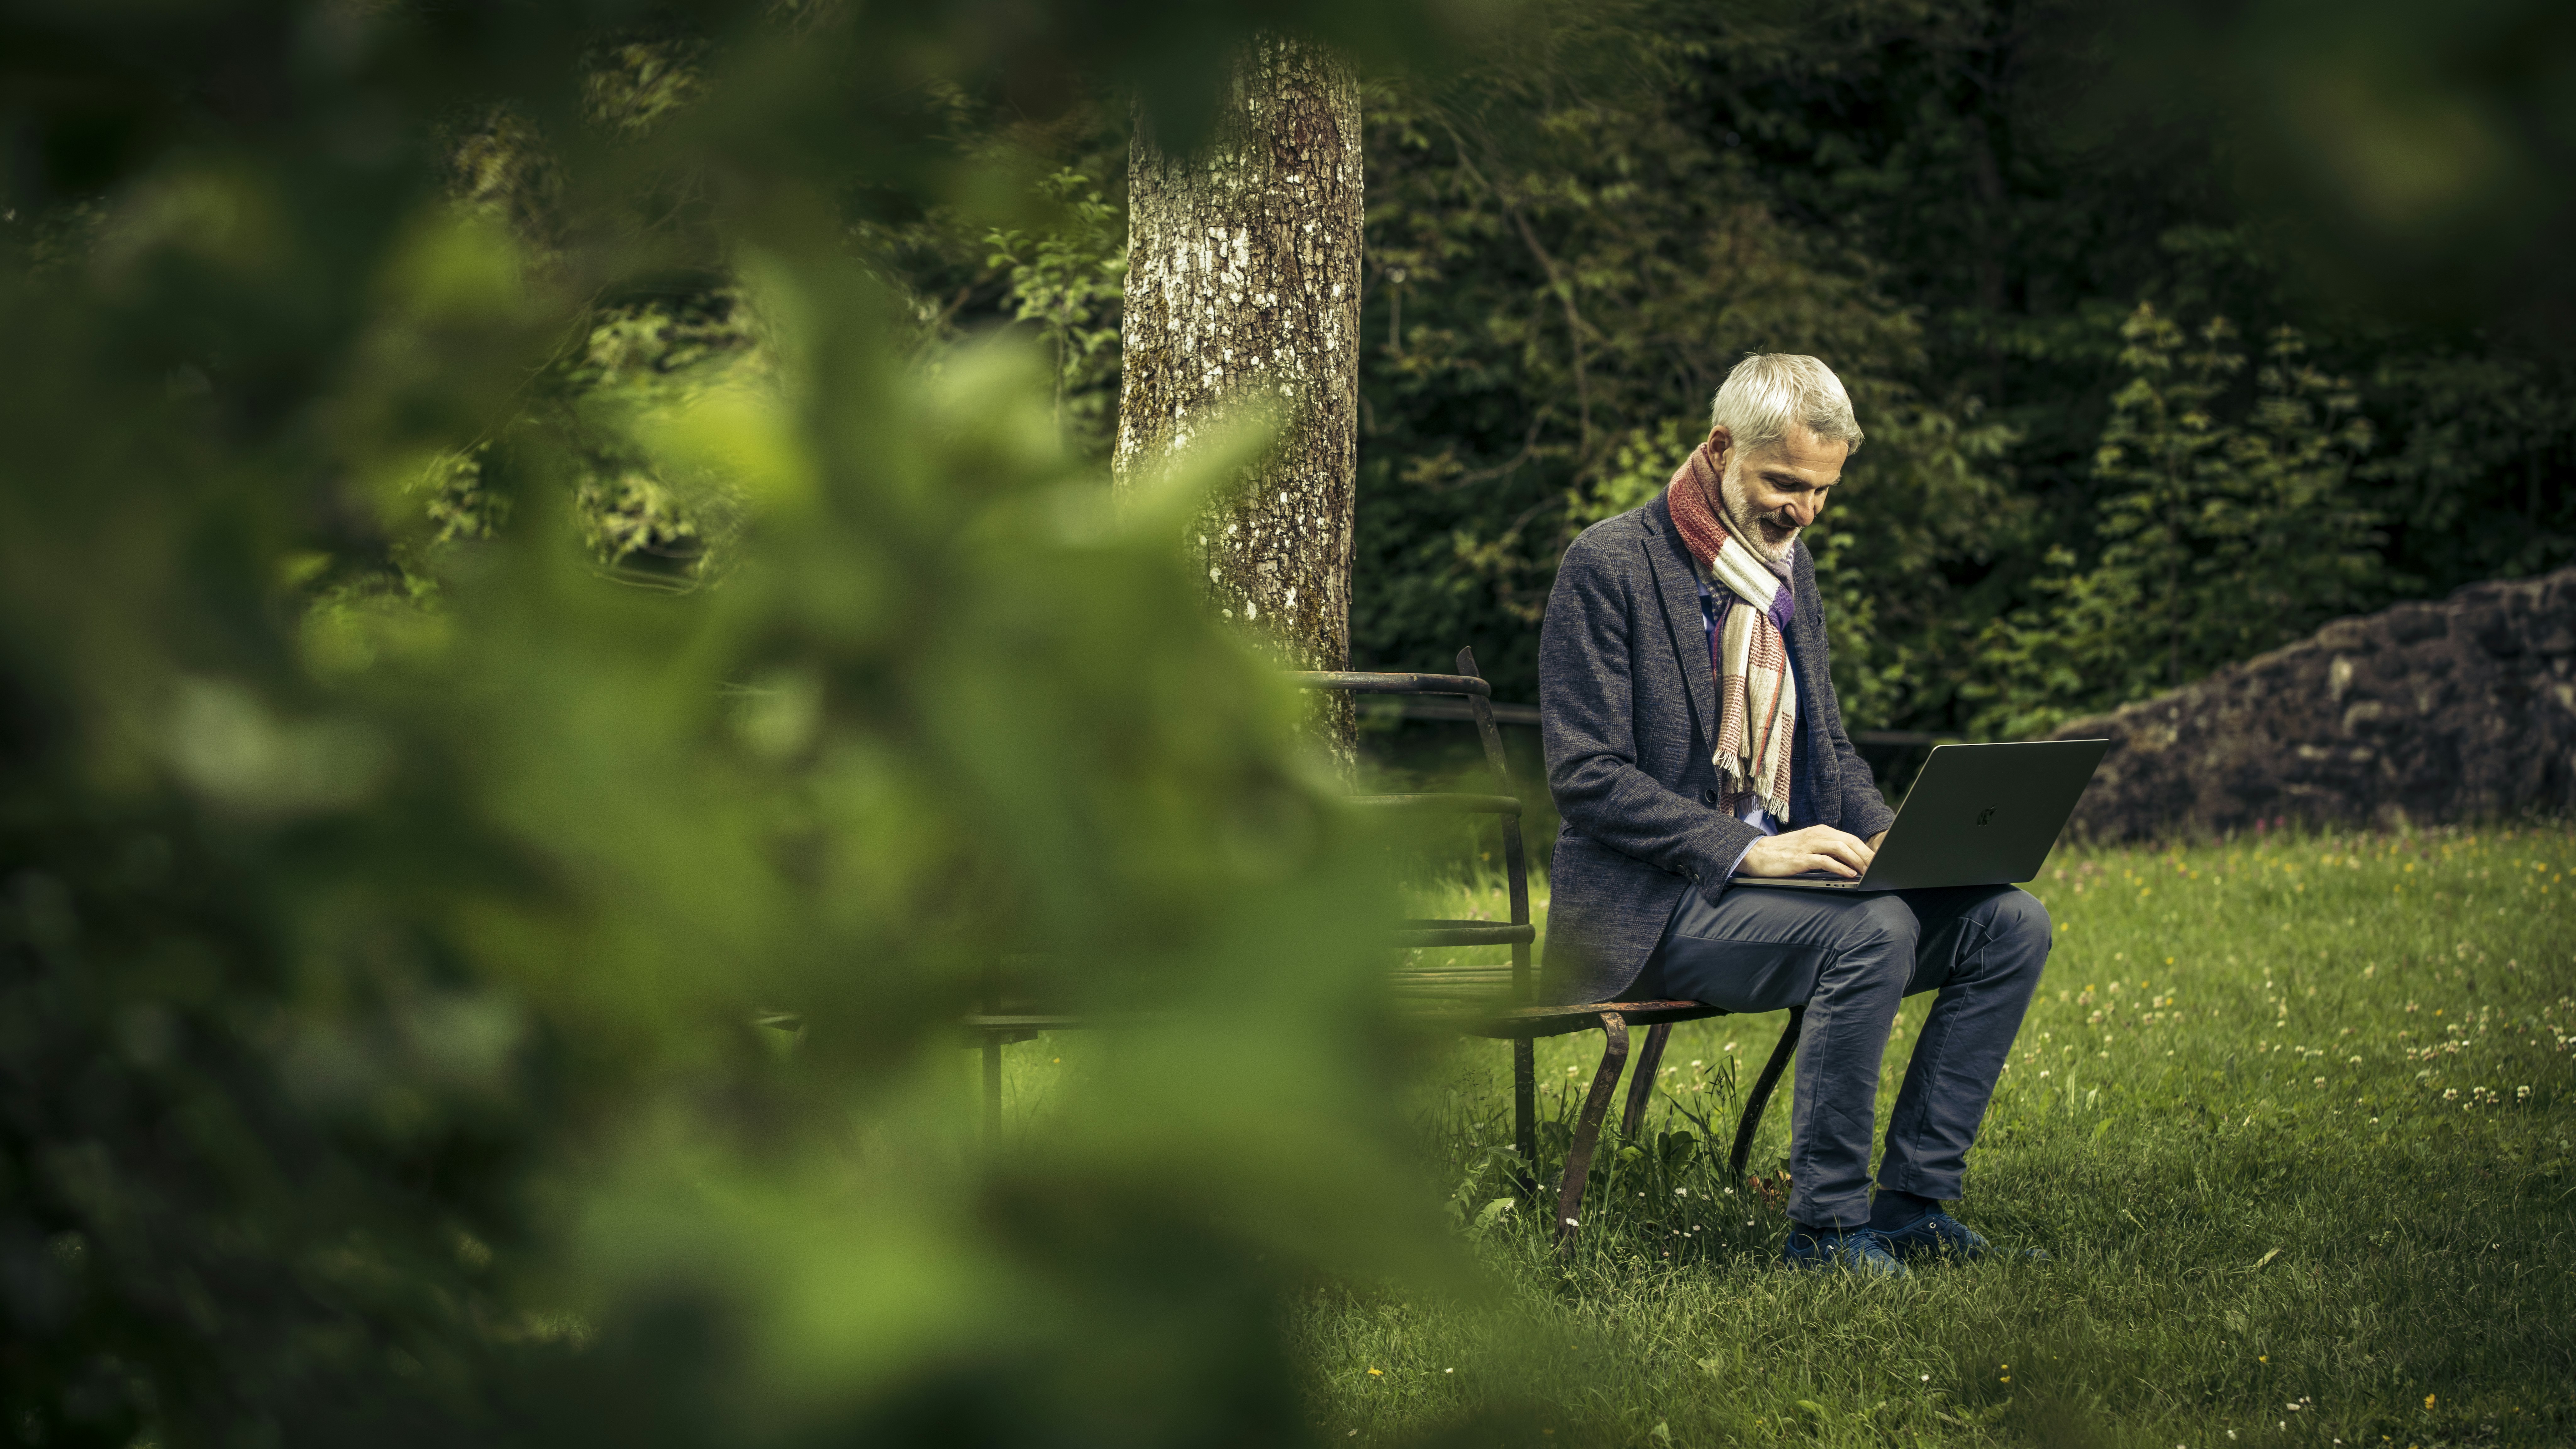
[[(1388, 815), (1492, 815), (1499, 825), (1512, 918), (1399, 920), (1388, 946), (1396, 951), (1422, 951), (1435, 946), (1510, 946), (1512, 964), (1401, 967), (1394, 972), (1391, 987), (1396, 1000), (1404, 1003), (1406, 1016), (1425, 1026), (1512, 1044), (1512, 1147), (1520, 1152), (1522, 1163), (1538, 1163), (1535, 1042), (1540, 1036), (1569, 1036), (1574, 1031), (1602, 1034), (1602, 1060), (1592, 1073), (1592, 1088), (1584, 1093), (1584, 1106), (1574, 1119), (1574, 1134), (1566, 1145), (1566, 1165), (1556, 1181), (1556, 1240), (1566, 1243), (1579, 1225), (1584, 1183), (1592, 1176), (1592, 1155), (1600, 1147), (1600, 1134), (1610, 1116), (1610, 1101), (1618, 1096), (1620, 1075), (1631, 1067), (1631, 1055), (1636, 1057), (1636, 1070), (1628, 1083), (1625, 1111), (1620, 1114), (1620, 1134), (1625, 1137), (1636, 1137), (1646, 1122), (1646, 1106), (1654, 1101), (1654, 1083), (1672, 1026), (1677, 1021), (1726, 1016), (1726, 1011), (1698, 1000), (1587, 1000), (1574, 1006), (1538, 1003), (1538, 977), (1530, 969), (1530, 946), (1538, 944), (1538, 928), (1530, 920), (1530, 869), (1520, 835), (1520, 797), (1512, 794), (1512, 771), (1502, 750), (1502, 730), (1494, 722), (1494, 691), (1476, 673), (1473, 650), (1458, 650), (1458, 673), (1453, 676), (1337, 670), (1296, 673), (1291, 681), (1301, 688), (1332, 688), (1345, 694), (1461, 696), (1468, 704), (1476, 735), (1484, 743), (1486, 768), (1492, 771), (1492, 794), (1363, 794), (1352, 797), (1352, 804)], [(1728, 1171), (1736, 1181), (1744, 1178), (1754, 1132), (1762, 1127), (1762, 1111), (1770, 1106), (1772, 1088), (1777, 1088), (1780, 1073), (1788, 1067), (1788, 1060), (1798, 1047), (1801, 1016), (1801, 1011), (1790, 1011), (1788, 1029), (1780, 1034), (1777, 1047), (1772, 1047), (1770, 1060), (1762, 1065), (1752, 1091), (1744, 1096), (1744, 1114), (1736, 1122), (1734, 1152), (1728, 1155)], [(1002, 972), (997, 964), (987, 975), (984, 1011), (966, 1018), (966, 1031), (981, 1044), (984, 1055), (987, 1134), (999, 1134), (1005, 1044), (1025, 1042), (1038, 1031), (1100, 1024), (1103, 1021), (1077, 1013), (1007, 1011)], [(1631, 1031), (1638, 1026), (1646, 1029), (1646, 1042), (1641, 1049), (1631, 1052)], [(1535, 1183), (1525, 1181), (1522, 1191), (1535, 1196)]]

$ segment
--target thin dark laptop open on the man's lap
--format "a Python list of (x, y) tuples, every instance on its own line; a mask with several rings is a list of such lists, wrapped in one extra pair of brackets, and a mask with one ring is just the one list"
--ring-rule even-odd
[(1924, 773), (1896, 807), (1896, 822), (1860, 879), (1832, 871), (1795, 877), (1736, 874), (1726, 884), (1762, 890), (1932, 890), (2020, 884), (2040, 874), (2058, 830), (2110, 740), (2022, 745), (1935, 745)]

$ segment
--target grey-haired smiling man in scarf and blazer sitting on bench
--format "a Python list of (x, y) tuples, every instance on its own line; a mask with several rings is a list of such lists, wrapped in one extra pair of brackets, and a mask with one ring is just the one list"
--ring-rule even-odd
[[(1942, 1212), (2048, 959), (2014, 887), (1728, 890), (1857, 877), (1893, 810), (1842, 732), (1798, 531), (1860, 423), (1808, 356), (1747, 356), (1662, 498), (1566, 549), (1538, 647), (1556, 1003), (1806, 1008), (1783, 1261), (1904, 1274), (1986, 1240)], [(1862, 562), (1865, 567), (1865, 562)], [(1870, 1196), (1878, 1062), (1899, 1000), (1937, 990)]]

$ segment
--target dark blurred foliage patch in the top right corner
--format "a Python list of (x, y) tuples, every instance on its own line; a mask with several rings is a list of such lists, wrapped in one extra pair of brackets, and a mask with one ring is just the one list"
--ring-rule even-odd
[[(2566, 358), (2576, 13), (2540, 0), (2133, 3), (2097, 116), (2218, 134), (2290, 268), (2357, 312)], [(2494, 345), (2488, 338), (2481, 343)], [(2478, 351), (2488, 351), (2481, 345)]]

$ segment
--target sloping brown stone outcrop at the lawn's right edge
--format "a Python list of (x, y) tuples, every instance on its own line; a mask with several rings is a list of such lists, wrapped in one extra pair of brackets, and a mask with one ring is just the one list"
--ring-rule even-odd
[(2576, 570), (2336, 619), (2056, 737), (2105, 735), (2074, 820), (2092, 841), (2568, 815)]

